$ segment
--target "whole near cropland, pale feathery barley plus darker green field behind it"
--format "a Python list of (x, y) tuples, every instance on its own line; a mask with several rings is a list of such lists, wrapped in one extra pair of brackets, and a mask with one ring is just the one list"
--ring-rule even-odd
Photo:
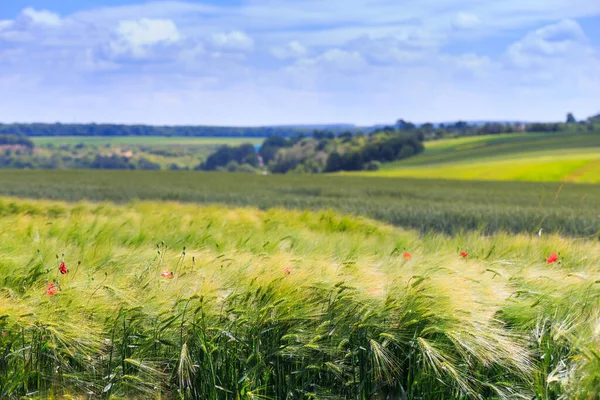
[(0, 196), (1, 398), (600, 396), (600, 185), (2, 170)]

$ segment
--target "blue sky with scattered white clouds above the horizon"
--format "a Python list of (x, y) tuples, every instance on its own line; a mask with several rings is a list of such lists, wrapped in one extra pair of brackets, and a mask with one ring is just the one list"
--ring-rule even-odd
[(0, 0), (0, 122), (600, 113), (600, 1)]

